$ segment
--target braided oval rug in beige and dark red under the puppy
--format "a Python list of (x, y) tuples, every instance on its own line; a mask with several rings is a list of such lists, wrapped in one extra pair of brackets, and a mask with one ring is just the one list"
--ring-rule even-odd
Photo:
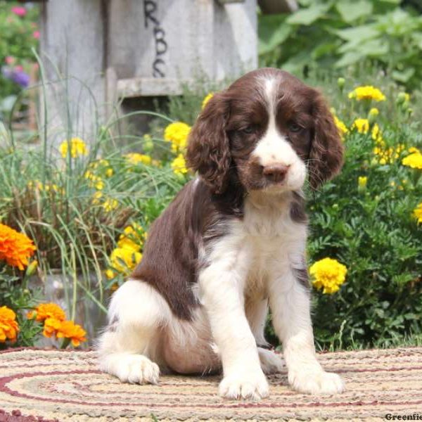
[(270, 397), (229, 401), (219, 376), (162, 376), (160, 385), (122, 384), (96, 369), (92, 351), (9, 349), (0, 352), (0, 421), (385, 421), (422, 420), (422, 347), (319, 355), (347, 390), (312, 396), (269, 376)]

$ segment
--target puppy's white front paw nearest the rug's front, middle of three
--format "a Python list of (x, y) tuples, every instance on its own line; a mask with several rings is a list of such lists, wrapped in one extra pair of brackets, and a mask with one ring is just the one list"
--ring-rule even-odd
[(219, 394), (227, 399), (261, 399), (268, 396), (268, 382), (259, 371), (234, 373), (224, 376), (219, 385)]

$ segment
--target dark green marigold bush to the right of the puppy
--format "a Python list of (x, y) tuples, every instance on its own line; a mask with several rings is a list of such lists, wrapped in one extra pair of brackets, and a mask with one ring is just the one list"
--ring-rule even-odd
[[(342, 117), (350, 127), (352, 115)], [(422, 203), (422, 169), (403, 165), (403, 159), (409, 148), (422, 149), (422, 136), (407, 118), (399, 112), (396, 120), (385, 120), (381, 108), (366, 133), (345, 134), (340, 176), (309, 201), (309, 259), (335, 257), (348, 269), (338, 293), (316, 293), (321, 347), (385, 346), (397, 335), (421, 333), (422, 229), (414, 210)], [(381, 148), (373, 139), (375, 124)], [(359, 177), (365, 179), (359, 183)]]

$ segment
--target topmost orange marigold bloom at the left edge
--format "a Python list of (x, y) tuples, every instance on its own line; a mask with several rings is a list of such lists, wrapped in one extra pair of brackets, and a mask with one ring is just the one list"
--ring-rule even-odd
[(0, 260), (22, 271), (35, 250), (34, 243), (25, 234), (0, 224)]

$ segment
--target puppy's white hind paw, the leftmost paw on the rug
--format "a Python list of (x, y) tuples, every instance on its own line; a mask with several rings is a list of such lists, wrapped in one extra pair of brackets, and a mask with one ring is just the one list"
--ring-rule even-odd
[(160, 368), (141, 354), (127, 354), (117, 363), (114, 375), (124, 383), (157, 384)]

